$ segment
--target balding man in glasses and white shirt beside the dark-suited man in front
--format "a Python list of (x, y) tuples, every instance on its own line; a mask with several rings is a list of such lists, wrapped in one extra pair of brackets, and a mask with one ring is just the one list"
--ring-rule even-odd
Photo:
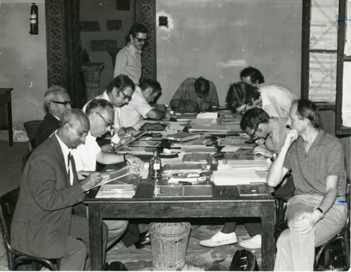
[[(90, 130), (86, 136), (86, 141), (72, 151), (80, 178), (83, 178), (83, 171), (95, 171), (96, 162), (108, 165), (126, 161), (131, 163), (132, 170), (143, 170), (143, 161), (140, 158), (131, 154), (106, 153), (101, 150), (96, 142), (96, 137), (104, 135), (110, 126), (113, 125), (114, 109), (110, 102), (103, 99), (91, 100), (86, 105), (86, 115), (90, 123)], [(108, 227), (107, 248), (109, 248), (110, 245), (124, 234), (128, 226), (128, 221), (104, 220), (104, 222)], [(130, 235), (124, 236), (123, 240), (126, 245), (133, 244), (138, 240), (139, 231), (137, 228), (135, 230), (133, 233), (136, 233), (132, 237)]]

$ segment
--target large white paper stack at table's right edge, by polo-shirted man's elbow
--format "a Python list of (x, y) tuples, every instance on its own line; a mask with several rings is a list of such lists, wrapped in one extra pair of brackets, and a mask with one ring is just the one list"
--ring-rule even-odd
[(253, 169), (230, 169), (213, 171), (211, 180), (216, 185), (237, 185), (266, 182), (267, 171)]

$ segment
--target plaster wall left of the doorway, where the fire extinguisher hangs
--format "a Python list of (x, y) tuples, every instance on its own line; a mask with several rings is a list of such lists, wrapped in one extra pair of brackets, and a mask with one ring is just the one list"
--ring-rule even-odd
[[(32, 1), (0, 1), (0, 86), (13, 88), (12, 114), (15, 130), (23, 123), (44, 118), (44, 93), (47, 86), (46, 27), (44, 0), (39, 8), (39, 34), (29, 34)], [(1, 118), (4, 118), (2, 115)], [(0, 130), (0, 139), (7, 139)]]

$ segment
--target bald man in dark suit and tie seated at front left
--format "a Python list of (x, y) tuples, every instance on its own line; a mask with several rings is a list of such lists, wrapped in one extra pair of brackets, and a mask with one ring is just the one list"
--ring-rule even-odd
[(85, 142), (88, 131), (88, 118), (80, 109), (61, 116), (58, 131), (34, 149), (25, 165), (11, 224), (13, 248), (32, 256), (60, 259), (60, 270), (65, 271), (90, 266), (86, 261), (88, 219), (74, 214), (74, 206), (84, 200), (83, 191), (98, 184), (101, 177), (93, 172), (79, 182), (70, 156), (71, 149)]

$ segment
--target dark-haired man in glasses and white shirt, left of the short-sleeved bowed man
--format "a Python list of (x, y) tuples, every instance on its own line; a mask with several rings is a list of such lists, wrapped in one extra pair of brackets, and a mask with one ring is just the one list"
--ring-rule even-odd
[[(95, 99), (104, 99), (113, 104), (114, 128), (112, 131), (113, 137), (111, 142), (115, 144), (123, 143), (124, 140), (121, 140), (121, 138), (127, 139), (128, 137), (138, 133), (134, 128), (131, 128), (130, 126), (124, 127), (121, 119), (121, 107), (131, 101), (134, 90), (135, 84), (133, 81), (131, 81), (128, 76), (121, 74), (110, 82), (102, 95), (95, 97)], [(88, 103), (84, 105), (83, 111), (86, 111), (86, 105)]]

